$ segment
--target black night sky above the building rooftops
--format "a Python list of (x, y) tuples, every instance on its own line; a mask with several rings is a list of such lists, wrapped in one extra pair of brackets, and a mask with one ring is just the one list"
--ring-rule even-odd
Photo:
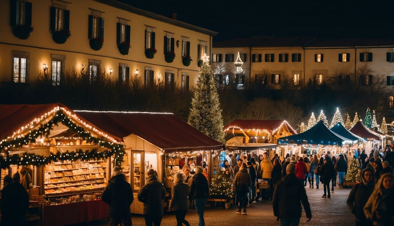
[[(252, 36), (385, 38), (394, 36), (394, 1), (135, 1), (135, 7), (172, 16), (219, 34), (214, 42)], [(171, 2), (171, 3), (170, 3)], [(303, 3), (300, 3), (303, 2)]]

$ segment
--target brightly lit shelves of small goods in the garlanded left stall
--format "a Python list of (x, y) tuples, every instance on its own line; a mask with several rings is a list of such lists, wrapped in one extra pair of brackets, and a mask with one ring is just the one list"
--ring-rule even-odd
[(46, 197), (102, 191), (106, 187), (106, 161), (48, 164), (45, 166)]

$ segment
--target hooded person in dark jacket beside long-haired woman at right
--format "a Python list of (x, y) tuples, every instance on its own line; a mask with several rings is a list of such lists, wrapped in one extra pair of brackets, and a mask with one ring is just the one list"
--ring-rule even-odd
[(351, 213), (354, 214), (356, 226), (372, 226), (372, 222), (367, 221), (364, 214), (364, 206), (374, 191), (375, 176), (374, 170), (366, 168), (361, 171), (360, 183), (355, 184), (349, 193), (346, 204)]

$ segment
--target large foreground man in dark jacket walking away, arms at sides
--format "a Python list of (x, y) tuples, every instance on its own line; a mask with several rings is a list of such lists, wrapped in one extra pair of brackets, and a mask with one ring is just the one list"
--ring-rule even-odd
[(287, 175), (279, 180), (273, 195), (273, 215), (281, 220), (281, 225), (298, 225), (301, 218), (301, 203), (307, 215), (307, 222), (312, 218), (304, 185), (296, 177), (296, 166), (288, 164)]

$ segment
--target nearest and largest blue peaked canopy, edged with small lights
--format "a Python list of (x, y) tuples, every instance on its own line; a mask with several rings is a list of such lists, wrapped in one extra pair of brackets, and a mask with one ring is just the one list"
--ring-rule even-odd
[(278, 144), (342, 145), (342, 142), (346, 140), (349, 139), (331, 131), (320, 120), (315, 126), (303, 133), (279, 138)]

